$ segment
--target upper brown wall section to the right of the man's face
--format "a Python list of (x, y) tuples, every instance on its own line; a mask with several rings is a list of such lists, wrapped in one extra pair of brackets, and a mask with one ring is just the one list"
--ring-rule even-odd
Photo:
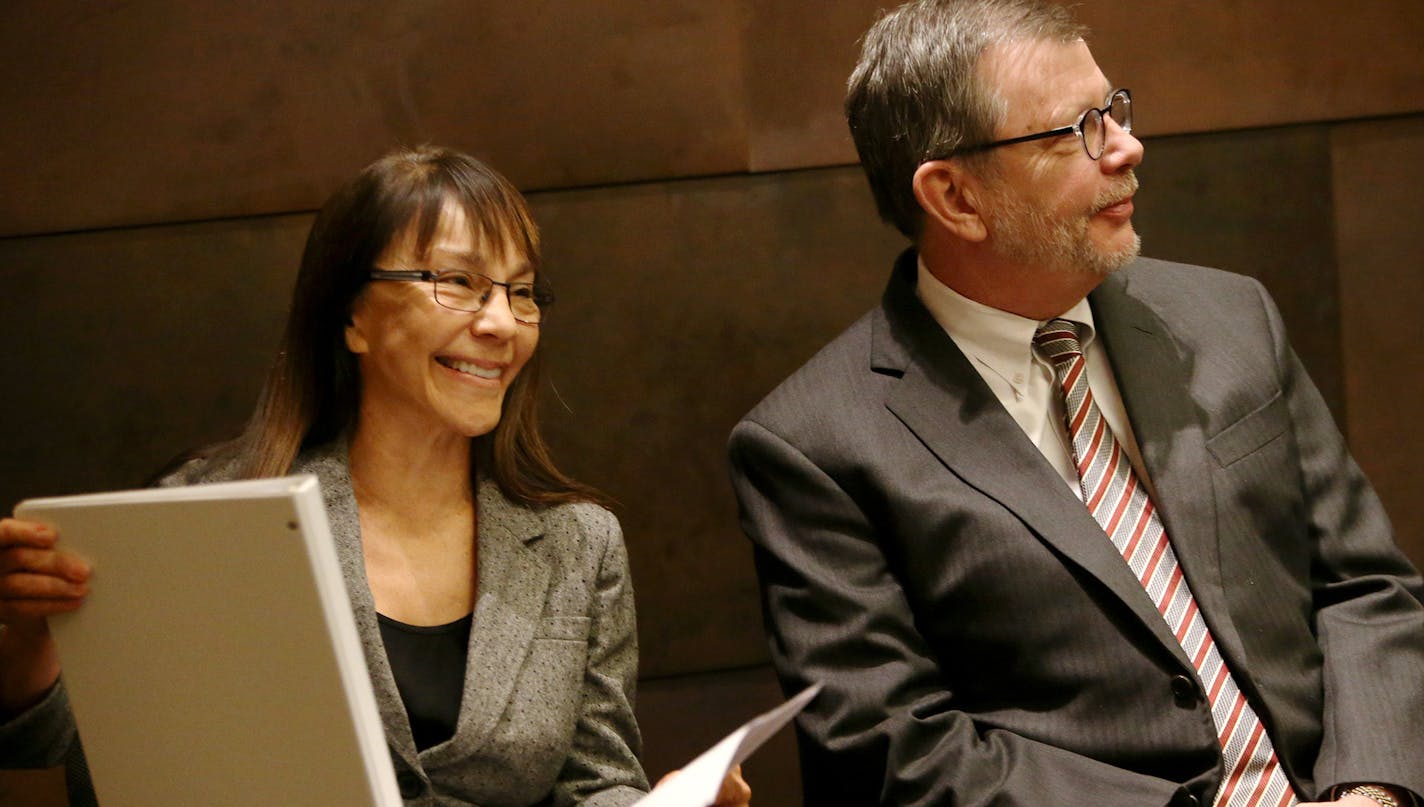
[(1424, 110), (1418, 0), (1088, 0), (1109, 78), (1149, 100), (1148, 135)]

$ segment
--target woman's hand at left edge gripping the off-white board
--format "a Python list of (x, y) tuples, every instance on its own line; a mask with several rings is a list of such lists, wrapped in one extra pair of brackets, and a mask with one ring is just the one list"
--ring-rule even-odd
[(54, 686), (60, 662), (46, 619), (80, 608), (88, 594), (88, 564), (58, 539), (51, 527), (0, 518), (0, 719)]

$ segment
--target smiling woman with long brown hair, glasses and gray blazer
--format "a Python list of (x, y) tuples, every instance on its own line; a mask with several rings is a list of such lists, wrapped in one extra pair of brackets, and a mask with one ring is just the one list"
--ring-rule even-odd
[[(535, 421), (553, 296), (520, 194), (478, 161), (394, 152), (316, 216), (246, 430), (162, 484), (322, 482), (407, 804), (627, 804), (648, 788), (617, 519)], [(44, 618), (88, 568), (0, 521), (0, 749), (93, 800)], [(746, 803), (733, 773), (725, 804)]]

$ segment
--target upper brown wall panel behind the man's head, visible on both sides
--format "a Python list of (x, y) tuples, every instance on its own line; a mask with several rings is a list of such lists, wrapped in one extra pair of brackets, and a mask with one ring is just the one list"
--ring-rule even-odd
[[(854, 159), (839, 115), (857, 41), (896, 3), (750, 3), (752, 171)], [(1077, 16), (1148, 135), (1424, 110), (1417, 0), (1087, 0)]]

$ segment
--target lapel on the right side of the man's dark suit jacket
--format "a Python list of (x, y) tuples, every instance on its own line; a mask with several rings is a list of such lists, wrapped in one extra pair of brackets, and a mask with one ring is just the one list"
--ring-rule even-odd
[[(1139, 269), (1151, 270), (1151, 269)], [(1202, 418), (1185, 391), (1192, 389), (1192, 354), (1166, 325), (1129, 293), (1132, 273), (1105, 282), (1089, 296), (1132, 431), (1155, 488), (1153, 504), (1212, 638), (1233, 668), (1245, 659), (1222, 586), (1213, 465)]]

